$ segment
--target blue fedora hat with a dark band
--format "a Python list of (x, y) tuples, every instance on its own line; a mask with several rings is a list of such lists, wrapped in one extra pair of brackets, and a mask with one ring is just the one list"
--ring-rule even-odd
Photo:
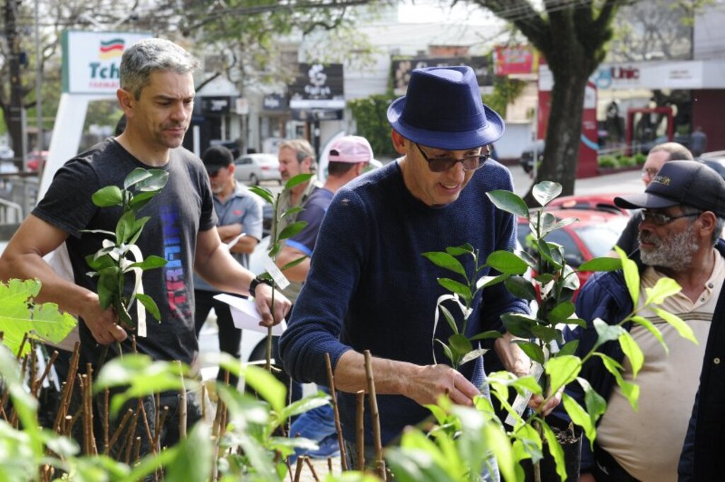
[(388, 107), (388, 122), (417, 144), (472, 149), (497, 141), (501, 116), (481, 102), (471, 67), (427, 67), (410, 74), (407, 93)]

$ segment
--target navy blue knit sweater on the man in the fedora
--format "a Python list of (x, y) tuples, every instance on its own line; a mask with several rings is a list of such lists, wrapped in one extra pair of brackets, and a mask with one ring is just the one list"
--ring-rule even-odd
[[(497, 249), (513, 249), (513, 216), (494, 207), (485, 194), (512, 187), (508, 170), (489, 161), (476, 171), (460, 197), (444, 207), (428, 207), (415, 199), (405, 187), (397, 162), (341, 188), (320, 228), (307, 282), (280, 341), (288, 373), (297, 381), (326, 385), (325, 353), (335, 367), (349, 349), (432, 364), (436, 300), (448, 293), (436, 278), (457, 275), (421, 254), (465, 243), (479, 249), (481, 259)], [(473, 273), (473, 260), (460, 260)], [(460, 325), (460, 309), (449, 309)], [(474, 303), (468, 335), (501, 329), (502, 314), (527, 311), (526, 303), (508, 294), (501, 283), (487, 288)], [(442, 320), (436, 338), (447, 340), (451, 334)], [(448, 362), (437, 346), (436, 359)], [(461, 373), (480, 382), (481, 359), (463, 365)], [(341, 393), (339, 407), (344, 437), (355, 441), (355, 394)], [(384, 444), (429, 414), (425, 407), (399, 395), (379, 395), (378, 410)], [(365, 412), (365, 440), (372, 444), (369, 412)]]

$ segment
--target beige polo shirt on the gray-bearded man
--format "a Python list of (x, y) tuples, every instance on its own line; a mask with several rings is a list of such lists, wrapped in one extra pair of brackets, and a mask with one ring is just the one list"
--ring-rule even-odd
[[(669, 355), (645, 328), (634, 325), (631, 336), (645, 354), (645, 363), (632, 378), (625, 357), (624, 379), (639, 385), (639, 410), (634, 412), (618, 385), (608, 400), (607, 412), (597, 428), (597, 442), (634, 478), (643, 482), (676, 482), (677, 462), (700, 382), (703, 355), (710, 323), (725, 278), (725, 262), (715, 251), (713, 273), (703, 292), (692, 302), (678, 293), (660, 305), (687, 323), (699, 344), (679, 336), (671, 325), (649, 309), (639, 314), (662, 332)], [(639, 306), (645, 302), (645, 288), (652, 288), (664, 275), (647, 267), (640, 281)]]

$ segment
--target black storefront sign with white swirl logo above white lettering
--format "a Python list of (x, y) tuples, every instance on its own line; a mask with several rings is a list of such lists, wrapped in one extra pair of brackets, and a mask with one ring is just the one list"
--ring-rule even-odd
[(289, 92), (292, 109), (344, 109), (342, 64), (300, 64)]

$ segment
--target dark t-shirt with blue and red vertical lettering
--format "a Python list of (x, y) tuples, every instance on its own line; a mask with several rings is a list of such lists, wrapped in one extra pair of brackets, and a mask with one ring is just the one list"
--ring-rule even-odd
[[(61, 167), (53, 183), (33, 210), (33, 215), (65, 230), (70, 236), (66, 244), (73, 267), (75, 283), (96, 291), (97, 278), (86, 273), (90, 267), (85, 257), (101, 248), (110, 236), (82, 233), (81, 230), (115, 232), (120, 207), (99, 208), (91, 195), (99, 188), (115, 185), (123, 188), (123, 180), (136, 167), (151, 169), (115, 139), (109, 138), (78, 154)], [(154, 299), (161, 313), (158, 323), (146, 317), (147, 336), (137, 338), (138, 352), (154, 360), (181, 360), (191, 364), (199, 352), (194, 334), (194, 253), (196, 234), (216, 224), (212, 192), (201, 160), (183, 148), (170, 151), (169, 173), (165, 188), (141, 209), (138, 217), (149, 216), (136, 244), (144, 258), (155, 254), (167, 259), (165, 267), (144, 272), (144, 292)], [(130, 293), (133, 278), (127, 278), (125, 291)], [(136, 306), (130, 309), (136, 319)], [(85, 323), (80, 323), (82, 353), (88, 362), (96, 362), (100, 346), (96, 344)], [(124, 352), (130, 352), (130, 338)]]

